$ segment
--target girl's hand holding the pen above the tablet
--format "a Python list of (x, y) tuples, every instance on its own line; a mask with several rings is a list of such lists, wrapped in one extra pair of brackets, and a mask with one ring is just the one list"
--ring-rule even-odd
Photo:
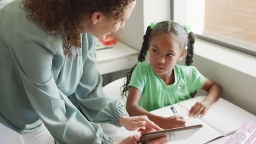
[(171, 117), (165, 117), (162, 120), (161, 127), (163, 129), (172, 129), (172, 128), (179, 128), (179, 127), (185, 127), (185, 120), (182, 116), (179, 116), (178, 118), (176, 116)]

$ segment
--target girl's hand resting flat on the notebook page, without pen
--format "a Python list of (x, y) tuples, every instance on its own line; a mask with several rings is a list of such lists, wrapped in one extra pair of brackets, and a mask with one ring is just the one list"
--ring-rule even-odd
[(189, 110), (190, 117), (203, 117), (206, 111), (210, 108), (211, 103), (208, 101), (196, 102)]

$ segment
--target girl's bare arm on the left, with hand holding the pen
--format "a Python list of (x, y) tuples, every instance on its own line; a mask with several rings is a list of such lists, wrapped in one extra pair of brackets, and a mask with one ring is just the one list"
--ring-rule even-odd
[(126, 102), (126, 109), (129, 112), (130, 116), (146, 115), (151, 121), (153, 121), (155, 124), (159, 125), (159, 127), (164, 129), (185, 127), (185, 121), (182, 116), (179, 116), (179, 118), (176, 118), (174, 116), (161, 117), (148, 112), (147, 110), (143, 109), (141, 106), (138, 106), (138, 102), (140, 98), (141, 98), (141, 91), (139, 91), (135, 87), (131, 87), (128, 98), (127, 98), (127, 102)]

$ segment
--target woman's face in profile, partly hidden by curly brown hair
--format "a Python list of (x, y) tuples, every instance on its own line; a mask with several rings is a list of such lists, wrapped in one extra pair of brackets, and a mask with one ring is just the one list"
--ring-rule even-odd
[(117, 32), (119, 29), (124, 27), (125, 20), (130, 17), (135, 5), (136, 1), (127, 5), (125, 14), (123, 15), (123, 22), (116, 22), (114, 17), (106, 17), (99, 11), (94, 12), (91, 16), (91, 22), (87, 24), (85, 23), (86, 32), (90, 32), (97, 38), (105, 38), (107, 34)]

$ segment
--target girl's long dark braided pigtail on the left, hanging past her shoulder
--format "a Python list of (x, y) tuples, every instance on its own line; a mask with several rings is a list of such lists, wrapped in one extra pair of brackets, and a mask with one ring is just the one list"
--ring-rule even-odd
[[(143, 43), (142, 43), (142, 48), (141, 48), (141, 52), (139, 52), (139, 57), (138, 57), (138, 61), (139, 62), (144, 62), (146, 59), (146, 56), (148, 54), (148, 49), (149, 49), (149, 40), (150, 40), (150, 36), (151, 36), (151, 32), (152, 29), (150, 26), (148, 26), (146, 34), (143, 37)], [(135, 69), (137, 64), (135, 64), (131, 70), (129, 71), (129, 73), (126, 74), (126, 83), (123, 86), (123, 90), (121, 89), (121, 95), (123, 97), (127, 97), (127, 91), (129, 91), (128, 85), (131, 81), (131, 76), (132, 76), (132, 72)]]

